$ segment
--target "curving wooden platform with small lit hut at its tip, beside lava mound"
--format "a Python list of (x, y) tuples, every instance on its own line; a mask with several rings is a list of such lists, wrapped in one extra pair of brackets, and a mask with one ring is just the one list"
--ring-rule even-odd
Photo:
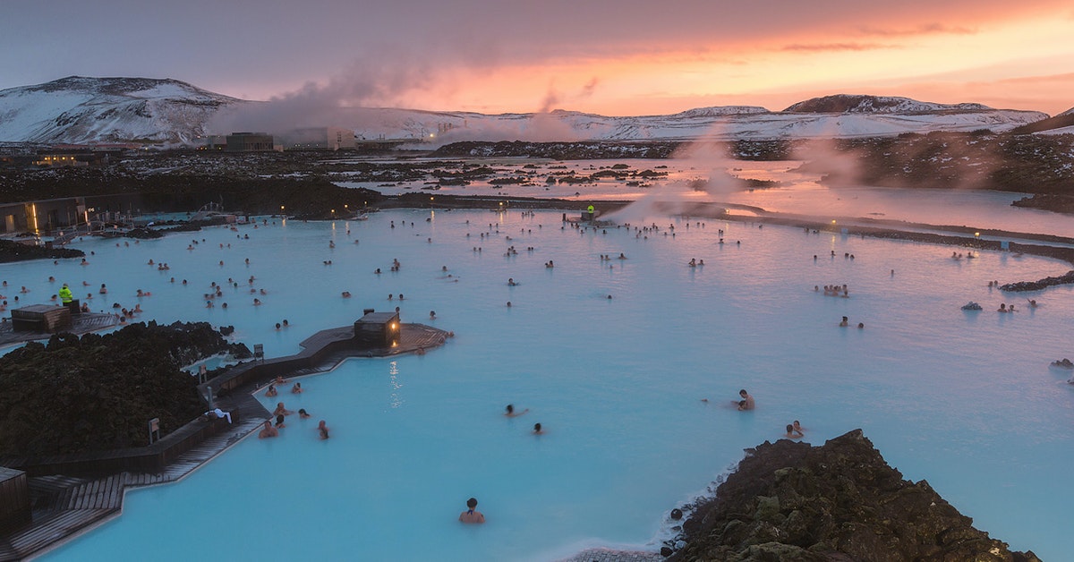
[[(425, 325), (398, 322), (396, 315), (386, 317), (383, 341), (355, 335), (362, 326), (360, 320), (353, 327), (321, 330), (303, 341), (302, 350), (293, 356), (255, 358), (200, 385), (203, 395), (208, 395), (212, 387), (212, 407), (231, 413), (233, 423), (199, 418), (146, 447), (43, 459), (0, 459), (0, 464), (26, 472), (32, 520), (16, 529), (0, 529), (0, 562), (40, 554), (89, 531), (119, 515), (127, 489), (180, 480), (238, 443), (270, 419), (270, 412), (253, 393), (276, 376), (290, 379), (326, 373), (350, 358), (422, 352), (442, 345), (452, 335)], [(368, 322), (365, 326), (368, 332)], [(47, 336), (39, 334), (37, 338)]]

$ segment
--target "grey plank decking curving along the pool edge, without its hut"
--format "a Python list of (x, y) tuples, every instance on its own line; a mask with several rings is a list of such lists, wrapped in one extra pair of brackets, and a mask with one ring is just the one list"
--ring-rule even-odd
[[(111, 315), (97, 316), (113, 318)], [(10, 330), (10, 323), (8, 328)], [(338, 346), (352, 335), (351, 327), (322, 330), (300, 344), (303, 350), (297, 356), (265, 362), (290, 361), (304, 356), (318, 358), (309, 366), (288, 371), (286, 376), (291, 378), (326, 373), (353, 357), (386, 357), (432, 349), (442, 345), (452, 334), (425, 325), (403, 325), (398, 346), (360, 350), (339, 348), (319, 354), (328, 347)], [(247, 369), (252, 364), (246, 365)], [(270, 418), (270, 413), (252, 393), (267, 381), (250, 380), (236, 388), (234, 392), (219, 397), (215, 405), (232, 413), (236, 419), (235, 424), (230, 431), (208, 437), (179, 455), (160, 473), (120, 472), (101, 478), (56, 474), (29, 478), (33, 521), (14, 533), (0, 535), (0, 562), (41, 554), (61, 542), (118, 516), (122, 509), (124, 493), (127, 489), (178, 481), (256, 431), (265, 419)]]

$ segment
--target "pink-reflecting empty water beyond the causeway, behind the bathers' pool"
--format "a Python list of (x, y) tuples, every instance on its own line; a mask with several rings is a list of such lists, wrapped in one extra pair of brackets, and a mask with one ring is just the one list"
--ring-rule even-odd
[[(362, 159), (379, 161), (381, 159)], [(1055, 234), (1074, 237), (1074, 220), (1070, 216), (1047, 211), (1012, 206), (1026, 193), (984, 189), (905, 189), (875, 186), (831, 187), (816, 173), (801, 172), (801, 161), (727, 160), (722, 156), (629, 159), (629, 160), (541, 160), (503, 158), (474, 160), (489, 165), (496, 176), (535, 174), (537, 185), (494, 185), (474, 181), (466, 186), (437, 187), (401, 182), (384, 185), (378, 182), (340, 182), (340, 185), (366, 187), (386, 194), (424, 192), (461, 196), (502, 196), (561, 198), (576, 201), (716, 201), (759, 206), (770, 212), (807, 215), (828, 220), (843, 217), (901, 220), (937, 226), (997, 229), (1011, 232)], [(630, 179), (603, 177), (591, 184), (547, 185), (551, 173), (572, 172), (590, 175), (615, 164), (626, 163), (633, 171), (656, 171), (667, 174), (656, 181), (643, 182), (648, 187), (630, 186)], [(531, 167), (531, 168), (526, 168)], [(729, 176), (777, 182), (771, 189), (741, 190), (729, 185)], [(701, 191), (693, 183), (708, 182)], [(635, 178), (635, 183), (638, 183)]]

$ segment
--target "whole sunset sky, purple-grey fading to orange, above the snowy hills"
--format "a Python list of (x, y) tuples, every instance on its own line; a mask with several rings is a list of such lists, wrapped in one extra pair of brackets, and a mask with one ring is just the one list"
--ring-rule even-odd
[(0, 4), (0, 89), (171, 77), (244, 99), (482, 113), (782, 110), (831, 93), (1074, 106), (1070, 0)]

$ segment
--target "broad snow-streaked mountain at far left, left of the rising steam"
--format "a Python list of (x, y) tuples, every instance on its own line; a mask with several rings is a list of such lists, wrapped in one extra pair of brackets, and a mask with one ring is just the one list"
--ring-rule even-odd
[(69, 76), (0, 90), (0, 141), (187, 144), (242, 103), (175, 80)]

